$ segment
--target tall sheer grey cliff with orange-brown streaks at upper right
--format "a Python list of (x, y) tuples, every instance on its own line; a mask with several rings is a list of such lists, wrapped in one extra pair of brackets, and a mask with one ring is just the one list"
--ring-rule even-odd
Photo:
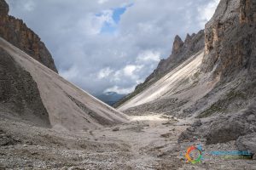
[(230, 79), (241, 71), (254, 77), (256, 68), (256, 2), (222, 0), (206, 25), (202, 71)]

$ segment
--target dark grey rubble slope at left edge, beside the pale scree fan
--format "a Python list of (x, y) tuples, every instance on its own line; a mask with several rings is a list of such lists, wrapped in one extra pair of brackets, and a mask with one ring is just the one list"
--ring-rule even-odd
[(38, 126), (50, 127), (48, 112), (30, 73), (17, 65), (2, 48), (0, 61), (1, 117), (15, 116)]

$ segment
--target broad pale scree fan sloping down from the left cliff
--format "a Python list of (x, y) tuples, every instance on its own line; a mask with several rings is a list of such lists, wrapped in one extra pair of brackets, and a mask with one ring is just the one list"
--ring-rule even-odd
[(0, 37), (3, 48), (35, 82), (51, 126), (57, 130), (82, 131), (116, 123), (129, 122), (129, 116), (104, 104), (84, 90), (67, 82), (31, 56)]

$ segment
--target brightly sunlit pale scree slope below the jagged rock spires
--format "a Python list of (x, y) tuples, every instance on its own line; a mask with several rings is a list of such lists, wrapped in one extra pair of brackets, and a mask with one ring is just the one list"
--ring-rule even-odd
[(198, 54), (191, 56), (173, 71), (167, 73), (165, 77), (154, 82), (154, 84), (143, 90), (143, 92), (126, 101), (125, 104), (120, 105), (119, 111), (125, 111), (137, 105), (143, 105), (156, 99), (171, 96), (177, 93), (178, 90), (189, 88), (191, 84), (186, 83), (186, 81), (189, 81), (189, 78), (199, 71), (203, 55), (204, 52), (201, 50)]

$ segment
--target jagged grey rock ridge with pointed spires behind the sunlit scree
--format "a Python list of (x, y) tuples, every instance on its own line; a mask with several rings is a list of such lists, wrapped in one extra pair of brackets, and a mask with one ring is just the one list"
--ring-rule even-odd
[(202, 50), (205, 47), (204, 37), (205, 34), (202, 30), (197, 34), (188, 34), (184, 42), (179, 36), (176, 36), (172, 45), (172, 54), (167, 59), (161, 59), (157, 68), (146, 78), (145, 82), (137, 85), (133, 93), (119, 100), (119, 102), (117, 102), (114, 106), (118, 107), (119, 105), (125, 103), (125, 101), (128, 99), (131, 99), (137, 94), (143, 92), (143, 90), (148, 88), (154, 82), (160, 80), (161, 77), (164, 77), (166, 73), (175, 69), (186, 59), (189, 59), (191, 55)]

